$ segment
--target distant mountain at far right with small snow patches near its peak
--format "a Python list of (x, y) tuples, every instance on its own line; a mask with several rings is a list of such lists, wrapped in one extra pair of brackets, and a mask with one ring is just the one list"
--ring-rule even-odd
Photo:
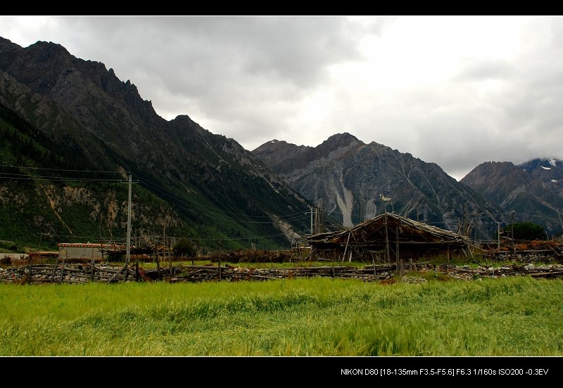
[[(485, 162), (460, 181), (497, 203), (514, 221), (544, 226), (548, 235), (561, 231), (563, 162), (553, 158), (511, 162)], [(512, 214), (514, 212), (514, 214)]]

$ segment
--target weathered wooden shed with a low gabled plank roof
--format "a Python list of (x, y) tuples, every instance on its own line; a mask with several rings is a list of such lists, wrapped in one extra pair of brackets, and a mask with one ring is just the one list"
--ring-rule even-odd
[(471, 241), (463, 235), (384, 213), (343, 231), (306, 238), (317, 259), (398, 263), (452, 254), (470, 254)]

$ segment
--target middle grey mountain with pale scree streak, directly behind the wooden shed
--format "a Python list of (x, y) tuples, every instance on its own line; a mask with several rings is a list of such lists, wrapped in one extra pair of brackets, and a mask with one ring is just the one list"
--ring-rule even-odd
[[(365, 144), (348, 133), (330, 136), (315, 148), (269, 141), (252, 152), (343, 226), (396, 212), (450, 231), (487, 235), (502, 221), (500, 207), (437, 164), (379, 143)], [(476, 213), (479, 221), (469, 215)]]

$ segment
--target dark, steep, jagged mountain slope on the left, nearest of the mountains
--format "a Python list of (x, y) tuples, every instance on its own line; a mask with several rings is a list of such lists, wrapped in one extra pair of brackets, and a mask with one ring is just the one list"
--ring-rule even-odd
[[(167, 228), (170, 235), (176, 228), (198, 245), (273, 248), (288, 247), (295, 233), (308, 227), (305, 212), (310, 204), (250, 151), (232, 138), (210, 133), (187, 115), (166, 121), (129, 80), (122, 82), (103, 63), (76, 58), (59, 44), (38, 41), (22, 48), (0, 38), (0, 124), (0, 140), (7, 150), (2, 164), (121, 172), (113, 176), (120, 179), (131, 172), (137, 183), (134, 228), (153, 231), (156, 226), (160, 233)], [(4, 182), (0, 193), (32, 191), (20, 190), (23, 182), (18, 180)], [(38, 188), (37, 196), (26, 198), (49, 203), (43, 193), (53, 191), (62, 198), (58, 186)], [(0, 221), (18, 219), (24, 209), (10, 198), (0, 198), (7, 206)], [(82, 229), (107, 231), (100, 220), (110, 216), (113, 235), (125, 235), (127, 207), (122, 200), (118, 214), (105, 214), (99, 204), (108, 202), (106, 193), (89, 198), (82, 203), (83, 217), (72, 210), (74, 224), (69, 207), (53, 207), (56, 216), (23, 214), (14, 228), (20, 232), (2, 237), (21, 240), (46, 230), (68, 235), (88, 219), (92, 225)], [(98, 204), (97, 209), (89, 204)], [(37, 221), (33, 231), (25, 230), (25, 219)], [(53, 240), (58, 242), (64, 241)]]

